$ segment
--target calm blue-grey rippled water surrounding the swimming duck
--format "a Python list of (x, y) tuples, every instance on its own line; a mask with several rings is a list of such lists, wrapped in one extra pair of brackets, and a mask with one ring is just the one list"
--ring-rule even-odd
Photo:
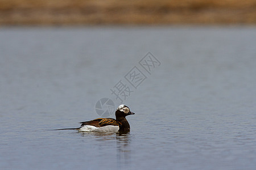
[[(1, 28), (0, 169), (255, 169), (255, 46), (254, 27)], [(119, 80), (130, 133), (49, 130), (117, 108)]]

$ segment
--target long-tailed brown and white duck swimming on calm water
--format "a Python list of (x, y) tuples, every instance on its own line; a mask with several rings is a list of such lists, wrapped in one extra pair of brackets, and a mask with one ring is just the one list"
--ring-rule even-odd
[[(126, 133), (130, 131), (130, 124), (126, 120), (126, 116), (135, 114), (130, 111), (130, 108), (124, 104), (119, 105), (115, 111), (114, 118), (96, 118), (94, 120), (80, 122), (80, 128), (68, 128), (75, 129), (79, 132), (114, 132), (114, 133)], [(55, 130), (68, 130), (68, 129), (55, 129)]]

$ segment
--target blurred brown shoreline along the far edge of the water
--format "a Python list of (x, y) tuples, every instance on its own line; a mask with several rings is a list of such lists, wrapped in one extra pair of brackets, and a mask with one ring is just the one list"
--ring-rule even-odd
[(0, 0), (0, 25), (256, 24), (254, 0)]

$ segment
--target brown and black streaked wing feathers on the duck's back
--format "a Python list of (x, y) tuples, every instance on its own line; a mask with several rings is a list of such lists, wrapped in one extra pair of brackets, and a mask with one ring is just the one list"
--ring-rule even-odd
[(114, 120), (114, 118), (96, 118), (96, 119), (91, 120), (91, 121), (80, 122), (80, 124), (82, 124), (82, 125), (92, 125), (92, 126), (96, 126), (97, 128), (100, 128), (102, 126), (108, 126), (108, 125), (114, 125), (114, 126), (121, 125), (121, 123)]

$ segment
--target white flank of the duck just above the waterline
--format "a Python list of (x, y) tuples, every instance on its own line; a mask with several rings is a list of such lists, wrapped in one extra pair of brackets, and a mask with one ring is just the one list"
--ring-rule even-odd
[(93, 132), (117, 132), (119, 130), (119, 126), (113, 126), (113, 125), (108, 125), (108, 126), (103, 126), (100, 128), (97, 128), (92, 125), (84, 125), (82, 126), (79, 131), (93, 131)]

